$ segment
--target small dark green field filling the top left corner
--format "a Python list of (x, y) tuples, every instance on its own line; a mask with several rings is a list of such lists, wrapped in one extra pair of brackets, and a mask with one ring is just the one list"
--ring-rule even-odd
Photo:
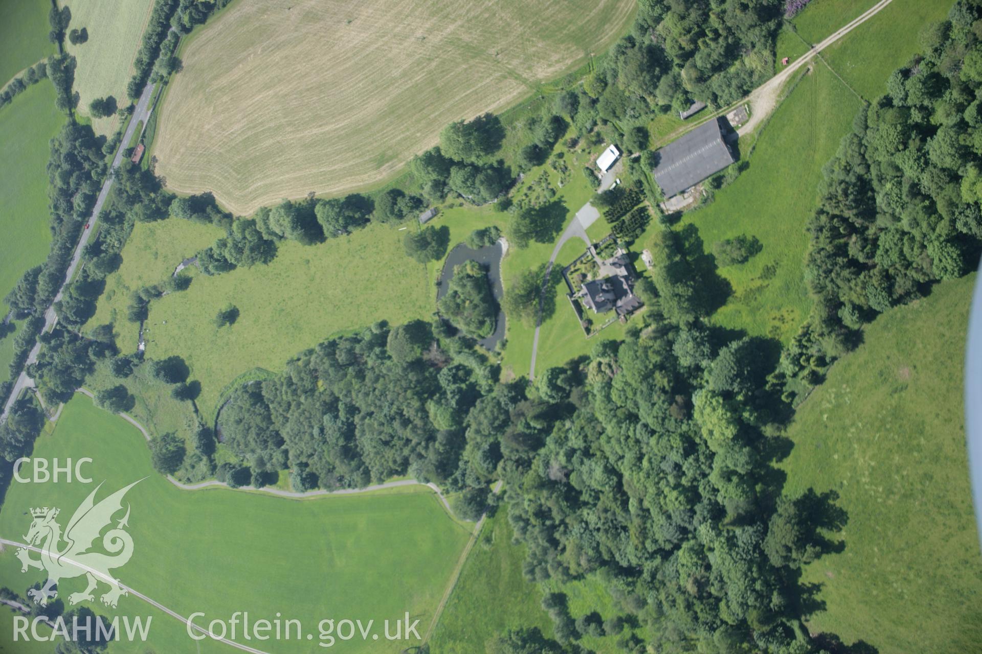
[(48, 40), (50, 0), (0, 0), (0, 88), (12, 77), (54, 54)]

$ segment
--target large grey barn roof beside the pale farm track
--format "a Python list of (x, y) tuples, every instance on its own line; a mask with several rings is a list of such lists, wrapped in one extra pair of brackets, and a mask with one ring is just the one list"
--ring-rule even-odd
[(665, 197), (699, 183), (734, 163), (733, 153), (723, 139), (720, 119), (704, 123), (661, 150), (652, 173)]

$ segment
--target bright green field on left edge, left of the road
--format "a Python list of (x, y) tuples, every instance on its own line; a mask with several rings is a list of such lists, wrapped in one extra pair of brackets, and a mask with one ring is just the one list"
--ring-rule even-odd
[(0, 111), (0, 158), (16, 162), (0, 176), (0, 312), (2, 298), (31, 266), (44, 261), (51, 242), (48, 229), (48, 141), (65, 116), (55, 109), (55, 91), (40, 81)]

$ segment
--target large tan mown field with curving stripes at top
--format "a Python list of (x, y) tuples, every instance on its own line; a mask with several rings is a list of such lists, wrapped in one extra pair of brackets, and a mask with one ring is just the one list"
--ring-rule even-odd
[(603, 52), (632, 0), (271, 0), (189, 38), (157, 173), (237, 214), (393, 176), (446, 124), (499, 111)]

